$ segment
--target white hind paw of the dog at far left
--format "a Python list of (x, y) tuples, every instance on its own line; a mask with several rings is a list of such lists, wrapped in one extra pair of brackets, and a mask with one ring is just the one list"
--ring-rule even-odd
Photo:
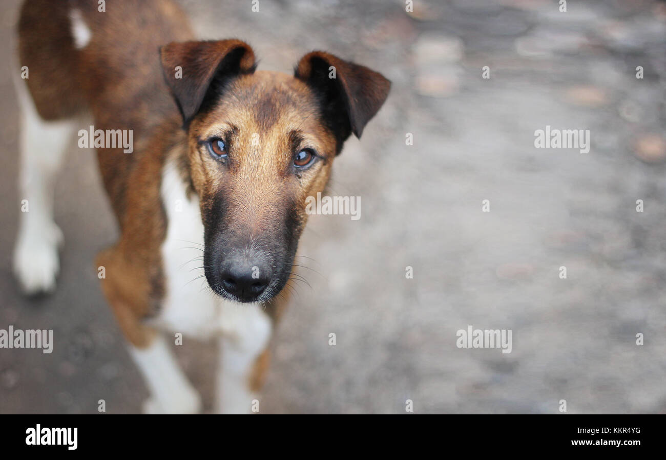
[(21, 231), (14, 248), (14, 273), (23, 292), (31, 295), (55, 289), (62, 242), (63, 233), (55, 223), (41, 231)]

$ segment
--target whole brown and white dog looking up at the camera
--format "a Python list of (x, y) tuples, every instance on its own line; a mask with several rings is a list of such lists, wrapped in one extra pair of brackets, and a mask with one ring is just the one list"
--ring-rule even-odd
[[(345, 139), (360, 137), (390, 82), (320, 51), (302, 57), (293, 76), (255, 71), (246, 43), (196, 41), (171, 1), (109, 0), (99, 9), (85, 0), (21, 9), (19, 65), (29, 78), (17, 79), (20, 182), (30, 208), (15, 273), (27, 293), (55, 287), (62, 236), (53, 175), (85, 117), (114, 136), (133, 130), (132, 153), (97, 149), (120, 238), (96, 267), (151, 392), (144, 410), (200, 411), (163, 335), (170, 331), (218, 338), (216, 409), (250, 412), (306, 197), (324, 189)], [(192, 245), (202, 259), (182, 251)], [(192, 263), (215, 295), (189, 282)]]

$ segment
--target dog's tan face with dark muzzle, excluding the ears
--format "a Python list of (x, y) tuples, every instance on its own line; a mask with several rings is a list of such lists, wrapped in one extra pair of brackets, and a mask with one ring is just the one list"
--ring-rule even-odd
[(266, 72), (230, 81), (188, 134), (206, 279), (224, 297), (268, 299), (290, 275), (305, 199), (324, 189), (336, 139), (305, 83)]

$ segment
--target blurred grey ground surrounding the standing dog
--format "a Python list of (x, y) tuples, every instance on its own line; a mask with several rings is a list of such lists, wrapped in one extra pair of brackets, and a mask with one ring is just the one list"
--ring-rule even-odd
[[(663, 2), (569, 1), (560, 13), (547, 0), (415, 0), (410, 15), (402, 1), (182, 4), (200, 37), (246, 39), (262, 69), (289, 72), (326, 49), (393, 81), (334, 166), (331, 193), (362, 197), (361, 219), (312, 217), (302, 239), (320, 275), (301, 272), (312, 289), (298, 288), (280, 325), (262, 413), (404, 413), (406, 399), (416, 413), (558, 413), (560, 399), (569, 413), (666, 412)], [(1, 5), (5, 63), (17, 6)], [(11, 275), (10, 72), (0, 328), (54, 329), (55, 350), (0, 349), (0, 413), (94, 413), (99, 399), (137, 412), (147, 391), (92, 266), (115, 237), (93, 151), (73, 147), (56, 191), (59, 289), (27, 300)], [(591, 151), (535, 149), (545, 125), (589, 129)], [(512, 329), (513, 351), (458, 349), (468, 325)], [(213, 348), (178, 350), (208, 409)]]

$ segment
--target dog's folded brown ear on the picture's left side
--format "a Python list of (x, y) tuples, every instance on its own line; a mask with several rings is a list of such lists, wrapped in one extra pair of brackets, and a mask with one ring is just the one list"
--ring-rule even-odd
[(198, 113), (208, 91), (254, 72), (256, 66), (250, 45), (235, 39), (169, 43), (160, 48), (160, 57), (184, 126)]

